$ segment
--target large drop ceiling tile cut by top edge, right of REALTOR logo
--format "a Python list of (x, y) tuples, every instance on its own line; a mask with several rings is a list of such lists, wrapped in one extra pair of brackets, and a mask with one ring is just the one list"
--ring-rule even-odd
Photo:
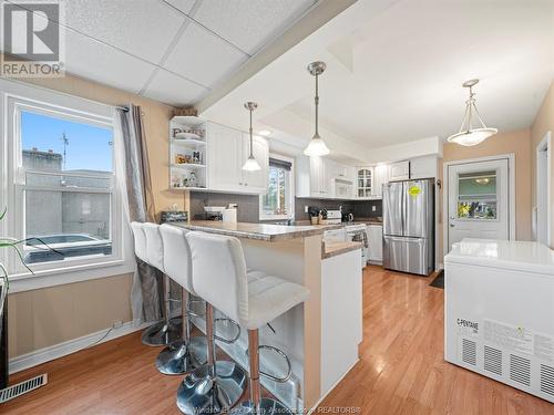
[(157, 63), (186, 19), (162, 1), (65, 1), (65, 24)]

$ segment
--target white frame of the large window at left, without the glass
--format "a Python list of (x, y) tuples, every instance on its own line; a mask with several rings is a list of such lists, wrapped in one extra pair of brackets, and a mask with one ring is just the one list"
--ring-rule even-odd
[(0, 261), (10, 272), (10, 291), (18, 292), (132, 272), (135, 264), (132, 261), (129, 208), (124, 198), (124, 173), (120, 163), (123, 159), (123, 143), (115, 125), (114, 108), (14, 81), (0, 80), (0, 145), (3, 154), (0, 156), (0, 206), (8, 207), (8, 215), (0, 222), (2, 236), (24, 238), (25, 169), (22, 168), (20, 139), (21, 111), (28, 110), (41, 115), (107, 126), (113, 129), (114, 135), (112, 187), (106, 189), (107, 191), (102, 191), (110, 193), (112, 200), (110, 209), (112, 255), (83, 256), (63, 261), (32, 263), (30, 267), (34, 273), (30, 273), (20, 263), (13, 250), (3, 249), (0, 251)]

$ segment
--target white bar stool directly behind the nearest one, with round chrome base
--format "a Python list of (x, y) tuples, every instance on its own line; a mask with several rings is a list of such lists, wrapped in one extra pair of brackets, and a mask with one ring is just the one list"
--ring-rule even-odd
[(162, 225), (165, 273), (182, 287), (182, 339), (171, 343), (157, 356), (156, 366), (163, 374), (175, 375), (191, 372), (206, 363), (207, 343), (204, 335), (191, 338), (192, 312), (188, 310), (189, 294), (193, 290), (191, 250), (185, 235), (186, 229), (171, 225)]

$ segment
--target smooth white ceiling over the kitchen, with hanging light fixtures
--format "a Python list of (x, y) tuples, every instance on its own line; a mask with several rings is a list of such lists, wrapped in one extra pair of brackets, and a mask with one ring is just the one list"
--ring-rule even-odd
[(352, 155), (343, 141), (359, 154), (445, 138), (473, 77), (488, 125), (526, 128), (554, 76), (554, 2), (360, 0), (203, 114), (236, 125), (242, 102), (257, 100), (255, 126), (301, 148), (312, 134), (314, 60), (327, 63), (320, 126), (331, 154)]

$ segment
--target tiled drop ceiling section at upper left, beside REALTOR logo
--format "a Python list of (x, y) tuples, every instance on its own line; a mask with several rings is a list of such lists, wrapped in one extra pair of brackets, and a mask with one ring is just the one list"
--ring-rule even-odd
[(319, 0), (71, 0), (65, 71), (191, 105), (274, 42)]

